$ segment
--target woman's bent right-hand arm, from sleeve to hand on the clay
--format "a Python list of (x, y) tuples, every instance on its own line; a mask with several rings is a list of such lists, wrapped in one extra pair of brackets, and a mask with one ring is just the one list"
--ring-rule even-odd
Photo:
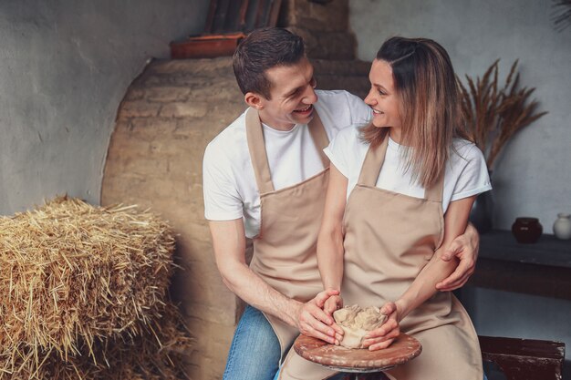
[(439, 248), (431, 260), (422, 268), (417, 278), (412, 282), (405, 293), (394, 303), (383, 305), (381, 312), (389, 314), (389, 322), (383, 324), (379, 329), (369, 333), (369, 339), (364, 342), (369, 346), (369, 350), (385, 348), (394, 339), (395, 330), (398, 331), (399, 323), (412, 310), (420, 306), (437, 292), (436, 284), (448, 277), (456, 266), (457, 260), (445, 262), (441, 260), (441, 255), (448, 245), (466, 230), (468, 216), (472, 209), (475, 196), (455, 200), (450, 203), (446, 215), (444, 216), (444, 238)]

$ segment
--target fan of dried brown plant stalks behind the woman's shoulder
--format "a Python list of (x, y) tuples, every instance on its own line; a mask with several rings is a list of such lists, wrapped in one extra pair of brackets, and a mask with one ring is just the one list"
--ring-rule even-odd
[(466, 132), (483, 151), (490, 170), (514, 134), (547, 113), (537, 113), (538, 102), (530, 100), (535, 88), (520, 88), (518, 60), (498, 90), (499, 61), (488, 67), (482, 79), (476, 77), (475, 85), (472, 77), (466, 76), (468, 89), (457, 78)]

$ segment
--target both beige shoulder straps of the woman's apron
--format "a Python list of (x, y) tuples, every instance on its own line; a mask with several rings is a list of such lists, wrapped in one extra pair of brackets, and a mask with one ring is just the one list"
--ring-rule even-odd
[[(385, 161), (387, 147), (389, 146), (389, 135), (380, 143), (379, 147), (369, 147), (363, 167), (358, 176), (358, 184), (365, 186), (376, 186), (379, 179), (380, 169)], [(424, 191), (425, 200), (442, 201), (442, 190), (444, 189), (444, 174), (430, 189)]]

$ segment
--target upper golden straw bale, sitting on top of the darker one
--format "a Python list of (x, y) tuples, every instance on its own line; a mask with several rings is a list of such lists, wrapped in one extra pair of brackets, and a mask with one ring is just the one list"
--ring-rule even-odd
[(0, 347), (95, 360), (97, 342), (140, 336), (161, 317), (173, 249), (168, 224), (134, 206), (61, 197), (0, 217)]

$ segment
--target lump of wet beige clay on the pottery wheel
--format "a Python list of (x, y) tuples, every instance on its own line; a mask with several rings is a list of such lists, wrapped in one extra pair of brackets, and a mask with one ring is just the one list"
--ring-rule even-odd
[(363, 309), (354, 304), (337, 310), (333, 313), (333, 318), (345, 332), (340, 342), (342, 346), (365, 348), (363, 347), (365, 334), (384, 324), (387, 315), (381, 314), (378, 307), (369, 306)]

